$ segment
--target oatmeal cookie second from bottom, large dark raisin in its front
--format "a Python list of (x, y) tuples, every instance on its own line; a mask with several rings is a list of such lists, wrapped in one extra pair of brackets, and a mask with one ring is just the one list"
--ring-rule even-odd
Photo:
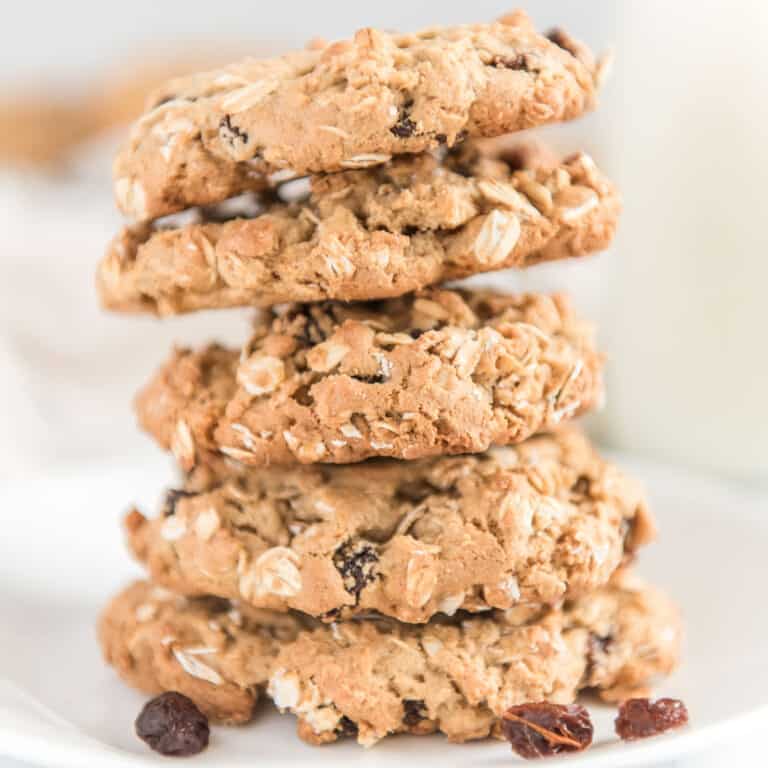
[(325, 620), (555, 604), (654, 534), (637, 485), (574, 429), (473, 456), (195, 480), (156, 519), (126, 520), (150, 578)]

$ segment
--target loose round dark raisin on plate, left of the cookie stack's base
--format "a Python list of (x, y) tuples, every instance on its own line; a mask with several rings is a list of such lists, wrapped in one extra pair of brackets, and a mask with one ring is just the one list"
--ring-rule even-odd
[(148, 701), (136, 718), (136, 735), (161, 755), (196, 755), (208, 746), (208, 718), (192, 699), (168, 691)]

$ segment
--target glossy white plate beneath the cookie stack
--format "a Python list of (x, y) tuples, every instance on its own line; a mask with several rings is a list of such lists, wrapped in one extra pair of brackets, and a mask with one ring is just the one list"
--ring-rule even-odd
[[(647, 766), (701, 749), (768, 717), (768, 500), (625, 462), (649, 488), (660, 541), (640, 570), (684, 607), (685, 663), (659, 692), (682, 698), (692, 724), (674, 735), (627, 745), (612, 731), (615, 711), (592, 708), (593, 747), (564, 765)], [(167, 766), (133, 734), (145, 697), (126, 688), (100, 658), (100, 606), (139, 571), (118, 530), (126, 503), (154, 508), (173, 477), (164, 461), (91, 467), (28, 477), (0, 490), (0, 754), (46, 766)], [(590, 705), (592, 706), (592, 705)], [(350, 741), (323, 748), (294, 735), (293, 717), (267, 704), (254, 722), (217, 728), (192, 760), (205, 766), (508, 765), (508, 745), (450, 745), (439, 736), (398, 736), (364, 751)]]

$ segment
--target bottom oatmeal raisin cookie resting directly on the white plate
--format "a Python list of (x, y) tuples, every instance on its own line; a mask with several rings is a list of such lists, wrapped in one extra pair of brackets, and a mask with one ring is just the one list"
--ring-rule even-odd
[(131, 685), (173, 688), (217, 720), (249, 720), (266, 687), (310, 743), (356, 736), (369, 746), (398, 732), (498, 736), (508, 707), (567, 703), (584, 688), (609, 700), (642, 694), (676, 665), (680, 623), (665, 596), (628, 574), (560, 609), (427, 625), (370, 618), (313, 626), (137, 582), (107, 607), (100, 640)]

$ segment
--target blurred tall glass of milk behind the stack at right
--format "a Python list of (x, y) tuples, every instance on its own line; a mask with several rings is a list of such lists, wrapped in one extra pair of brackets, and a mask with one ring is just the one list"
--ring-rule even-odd
[(768, 483), (768, 4), (586, 7), (568, 23), (613, 37), (612, 77), (596, 113), (543, 134), (616, 181), (619, 232), (495, 282), (570, 291), (597, 322), (603, 443)]

